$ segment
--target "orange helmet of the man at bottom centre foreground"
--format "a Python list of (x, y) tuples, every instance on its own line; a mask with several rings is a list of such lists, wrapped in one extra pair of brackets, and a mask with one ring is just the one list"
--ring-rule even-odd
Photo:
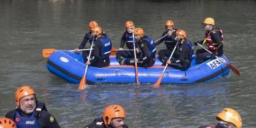
[(120, 105), (109, 105), (104, 109), (103, 112), (103, 122), (108, 126), (112, 119), (116, 117), (124, 118), (126, 117), (126, 111)]

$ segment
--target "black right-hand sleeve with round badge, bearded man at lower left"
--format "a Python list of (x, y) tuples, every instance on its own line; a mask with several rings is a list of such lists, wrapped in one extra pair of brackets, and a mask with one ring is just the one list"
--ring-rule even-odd
[(38, 119), (40, 127), (43, 128), (60, 128), (56, 118), (46, 111), (42, 111), (41, 117)]

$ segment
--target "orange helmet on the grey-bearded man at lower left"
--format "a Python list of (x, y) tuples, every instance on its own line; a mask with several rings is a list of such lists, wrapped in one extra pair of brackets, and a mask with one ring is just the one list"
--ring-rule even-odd
[(18, 88), (15, 92), (16, 106), (20, 106), (20, 99), (28, 95), (35, 95), (33, 88), (29, 87), (28, 85), (23, 85), (22, 87)]

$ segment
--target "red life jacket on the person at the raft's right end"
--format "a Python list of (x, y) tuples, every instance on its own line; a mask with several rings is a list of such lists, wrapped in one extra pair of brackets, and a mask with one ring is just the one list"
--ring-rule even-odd
[[(207, 42), (207, 49), (211, 52), (215, 52), (216, 49), (218, 48), (218, 43), (213, 42), (213, 40), (211, 40), (211, 33), (216, 32), (216, 31), (220, 33), (221, 41), (223, 43), (223, 33), (220, 28), (217, 28), (215, 30), (205, 33), (205, 41)], [(203, 41), (203, 43), (205, 43), (205, 41)]]

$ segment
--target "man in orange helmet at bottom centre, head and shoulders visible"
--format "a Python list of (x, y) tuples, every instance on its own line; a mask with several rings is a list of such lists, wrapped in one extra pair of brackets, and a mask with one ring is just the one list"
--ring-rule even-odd
[(124, 124), (126, 111), (120, 105), (109, 105), (104, 109), (103, 116), (96, 118), (92, 123), (84, 128), (128, 128)]

